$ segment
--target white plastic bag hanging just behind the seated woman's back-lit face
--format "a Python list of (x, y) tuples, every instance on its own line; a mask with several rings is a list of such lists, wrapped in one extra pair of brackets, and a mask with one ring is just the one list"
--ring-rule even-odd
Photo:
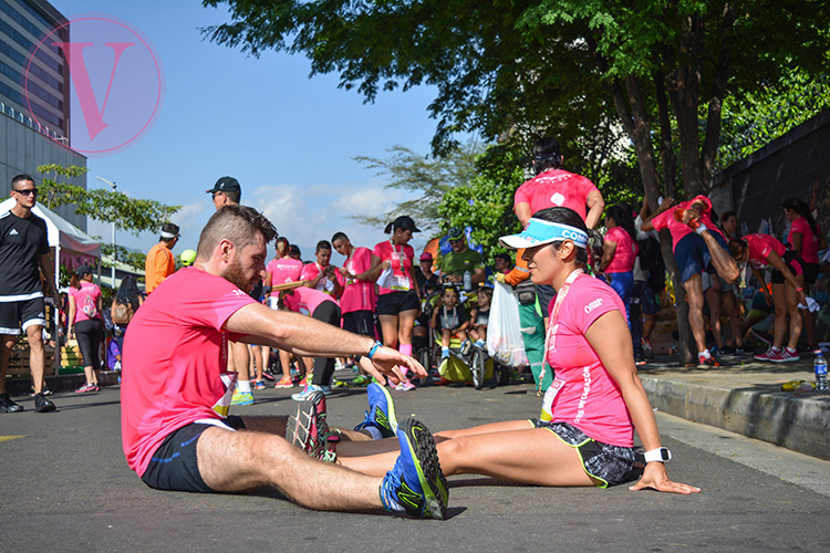
[(528, 364), (519, 324), (519, 301), (512, 289), (495, 283), (487, 325), (487, 353), (502, 365), (518, 367)]

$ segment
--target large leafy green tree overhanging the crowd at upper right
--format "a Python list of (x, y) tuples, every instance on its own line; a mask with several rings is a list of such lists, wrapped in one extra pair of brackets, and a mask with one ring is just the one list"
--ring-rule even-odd
[[(367, 101), (436, 86), (436, 153), (460, 132), (525, 140), (618, 124), (652, 206), (708, 191), (727, 97), (788, 67), (826, 73), (830, 51), (830, 3), (816, 0), (204, 0), (219, 3), (232, 21), (205, 29), (211, 40), (304, 53), (312, 74), (336, 72)], [(663, 251), (679, 290), (666, 237)], [(679, 302), (684, 346), (685, 320)]]

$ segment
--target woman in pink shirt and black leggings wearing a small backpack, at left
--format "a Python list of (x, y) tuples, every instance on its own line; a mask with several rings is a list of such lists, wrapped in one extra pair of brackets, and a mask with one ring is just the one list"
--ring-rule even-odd
[(68, 335), (77, 338), (77, 347), (84, 359), (86, 384), (77, 388), (77, 394), (100, 392), (101, 340), (104, 325), (101, 322), (101, 289), (92, 282), (92, 269), (81, 265), (70, 281), (70, 313)]

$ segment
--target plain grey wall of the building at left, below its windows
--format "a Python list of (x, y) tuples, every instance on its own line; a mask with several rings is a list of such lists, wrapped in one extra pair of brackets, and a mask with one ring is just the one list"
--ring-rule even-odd
[[(15, 175), (31, 175), (35, 184), (40, 185), (44, 175), (38, 173), (38, 166), (46, 164), (86, 167), (86, 158), (29, 126), (0, 114), (0, 197), (9, 196), (11, 179)], [(69, 182), (86, 188), (86, 176), (70, 179)], [(86, 231), (86, 217), (75, 215), (74, 206), (61, 206), (56, 212), (75, 227)]]

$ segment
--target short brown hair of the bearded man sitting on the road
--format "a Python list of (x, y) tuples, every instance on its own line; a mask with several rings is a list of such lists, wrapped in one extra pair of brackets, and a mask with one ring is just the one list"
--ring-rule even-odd
[(277, 229), (266, 216), (247, 206), (225, 206), (208, 220), (196, 248), (198, 259), (207, 260), (222, 240), (230, 240), (240, 250), (253, 243), (257, 233), (262, 234), (266, 243), (277, 238)]

